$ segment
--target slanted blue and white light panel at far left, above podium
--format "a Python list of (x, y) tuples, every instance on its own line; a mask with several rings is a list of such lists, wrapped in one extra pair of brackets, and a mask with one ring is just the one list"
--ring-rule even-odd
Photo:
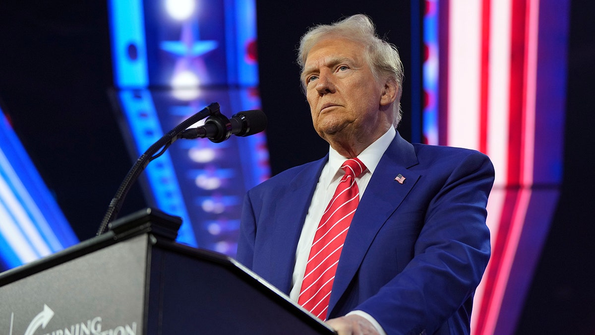
[(0, 270), (79, 242), (0, 110)]

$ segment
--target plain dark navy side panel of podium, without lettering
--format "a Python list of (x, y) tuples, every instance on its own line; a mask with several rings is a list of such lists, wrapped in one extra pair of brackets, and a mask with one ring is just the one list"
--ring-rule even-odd
[(332, 333), (228, 260), (155, 249), (147, 334)]

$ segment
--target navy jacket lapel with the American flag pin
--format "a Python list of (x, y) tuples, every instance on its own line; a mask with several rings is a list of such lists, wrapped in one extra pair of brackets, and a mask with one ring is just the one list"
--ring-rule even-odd
[[(397, 132), (378, 162), (353, 216), (337, 266), (328, 311), (333, 311), (337, 301), (345, 293), (384, 222), (414, 187), (419, 175), (408, 168), (417, 164), (413, 146)], [(394, 181), (399, 173), (406, 178), (403, 184)]]

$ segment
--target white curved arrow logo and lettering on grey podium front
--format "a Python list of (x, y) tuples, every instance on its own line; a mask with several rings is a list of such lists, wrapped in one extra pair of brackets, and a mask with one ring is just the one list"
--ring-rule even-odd
[[(37, 332), (37, 330), (39, 330), (40, 327), (45, 329), (54, 315), (54, 311), (52, 311), (52, 309), (44, 303), (43, 311), (39, 312), (39, 314), (37, 314), (35, 318), (33, 318), (33, 320), (29, 323), (29, 327), (27, 327), (24, 335), (34, 335), (36, 333), (40, 333)], [(12, 335), (13, 318), (14, 314), (11, 315), (9, 335)], [(102, 330), (101, 322), (101, 317), (95, 317), (93, 319), (87, 320), (87, 322), (79, 322), (77, 324), (70, 325), (70, 327), (54, 330), (49, 333), (43, 333), (43, 335), (136, 335), (136, 322), (108, 330)]]

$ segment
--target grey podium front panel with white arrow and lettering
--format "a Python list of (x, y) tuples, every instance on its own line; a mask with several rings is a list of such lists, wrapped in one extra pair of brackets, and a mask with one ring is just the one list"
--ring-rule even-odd
[(140, 235), (2, 286), (0, 334), (142, 334), (147, 244)]

